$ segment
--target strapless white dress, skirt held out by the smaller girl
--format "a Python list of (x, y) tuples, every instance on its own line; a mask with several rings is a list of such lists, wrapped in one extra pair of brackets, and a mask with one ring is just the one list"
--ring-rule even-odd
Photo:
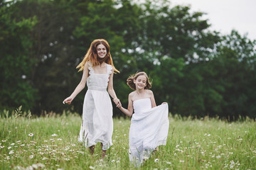
[(141, 164), (159, 145), (166, 145), (169, 130), (168, 104), (151, 108), (150, 98), (133, 102), (129, 130), (129, 160)]

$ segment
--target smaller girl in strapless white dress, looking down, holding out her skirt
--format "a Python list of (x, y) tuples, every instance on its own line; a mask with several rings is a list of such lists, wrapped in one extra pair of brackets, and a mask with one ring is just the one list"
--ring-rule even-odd
[[(129, 94), (128, 109), (118, 107), (132, 116), (129, 130), (129, 160), (139, 165), (148, 159), (156, 147), (166, 145), (169, 130), (168, 104), (156, 106), (151, 82), (145, 72), (138, 72), (127, 79), (134, 91)], [(134, 114), (132, 115), (134, 110)]]

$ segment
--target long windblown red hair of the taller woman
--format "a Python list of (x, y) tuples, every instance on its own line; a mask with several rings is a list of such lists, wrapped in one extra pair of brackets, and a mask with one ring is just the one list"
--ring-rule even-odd
[[(107, 55), (102, 59), (100, 57), (97, 57), (97, 46), (100, 44), (104, 45), (107, 49)], [(78, 72), (82, 71), (85, 68), (86, 62), (90, 62), (92, 64), (92, 67), (106, 62), (107, 64), (112, 65), (112, 67), (114, 68), (114, 72), (119, 73), (119, 71), (114, 67), (112, 57), (110, 55), (110, 45), (107, 40), (96, 39), (92, 41), (90, 48), (89, 50), (87, 50), (82, 62), (80, 62), (80, 64), (78, 64), (78, 67), (76, 67), (77, 69), (79, 69)]]

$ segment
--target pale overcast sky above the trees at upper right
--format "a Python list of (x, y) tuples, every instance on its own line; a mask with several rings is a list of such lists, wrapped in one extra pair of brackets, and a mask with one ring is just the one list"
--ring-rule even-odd
[(191, 5), (192, 11), (206, 13), (210, 30), (230, 34), (232, 29), (240, 35), (256, 40), (256, 0), (170, 0), (171, 6)]

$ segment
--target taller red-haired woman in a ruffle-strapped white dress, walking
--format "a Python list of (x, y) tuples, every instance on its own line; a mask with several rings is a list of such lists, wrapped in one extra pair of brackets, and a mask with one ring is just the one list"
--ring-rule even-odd
[(73, 94), (65, 98), (63, 103), (70, 104), (85, 88), (87, 82), (79, 142), (85, 142), (85, 147), (90, 147), (91, 154), (94, 153), (97, 142), (100, 142), (104, 158), (107, 149), (112, 145), (113, 120), (110, 96), (114, 98), (117, 106), (120, 104), (113, 89), (113, 74), (119, 71), (112, 62), (107, 40), (94, 40), (77, 68), (79, 72), (83, 71), (82, 79)]

